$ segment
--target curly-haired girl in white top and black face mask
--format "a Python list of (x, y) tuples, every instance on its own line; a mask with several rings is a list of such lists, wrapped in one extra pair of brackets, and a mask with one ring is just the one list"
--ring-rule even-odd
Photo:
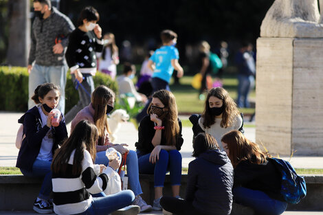
[(218, 143), (221, 143), (222, 135), (238, 130), (243, 124), (236, 103), (222, 87), (210, 89), (203, 114), (199, 119), (197, 115), (192, 115), (190, 121), (193, 124), (194, 135), (205, 132), (212, 135)]

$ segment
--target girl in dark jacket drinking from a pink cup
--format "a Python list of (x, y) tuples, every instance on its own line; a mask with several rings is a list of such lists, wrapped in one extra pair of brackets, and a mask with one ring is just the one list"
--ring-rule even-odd
[(52, 109), (58, 105), (59, 88), (52, 83), (38, 85), (32, 96), (37, 104), (28, 110), (20, 119), (23, 124), (25, 138), (21, 144), (16, 161), (27, 177), (43, 177), (41, 191), (34, 202), (34, 211), (41, 214), (52, 213), (52, 172), (50, 166), (58, 144), (67, 138), (65, 117), (60, 114), (58, 126), (52, 126)]

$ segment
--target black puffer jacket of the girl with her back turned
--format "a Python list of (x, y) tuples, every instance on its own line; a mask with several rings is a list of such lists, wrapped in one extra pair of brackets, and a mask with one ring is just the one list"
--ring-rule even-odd
[(188, 165), (186, 201), (192, 202), (194, 208), (203, 214), (230, 214), (233, 172), (225, 152), (203, 152)]

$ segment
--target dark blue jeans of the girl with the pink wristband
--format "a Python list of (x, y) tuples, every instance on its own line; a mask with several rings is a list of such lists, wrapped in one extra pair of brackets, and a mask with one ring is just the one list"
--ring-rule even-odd
[(155, 187), (164, 187), (165, 175), (170, 172), (171, 185), (181, 185), (181, 153), (178, 150), (159, 152), (159, 160), (156, 163), (149, 162), (151, 153), (140, 155), (137, 150), (139, 172), (143, 174), (154, 174)]

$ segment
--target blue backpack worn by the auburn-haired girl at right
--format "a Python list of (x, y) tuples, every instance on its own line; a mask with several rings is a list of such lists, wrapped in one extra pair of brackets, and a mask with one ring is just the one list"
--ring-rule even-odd
[(307, 185), (304, 177), (300, 177), (288, 161), (270, 158), (282, 175), (280, 194), (287, 203), (299, 203), (307, 195)]

